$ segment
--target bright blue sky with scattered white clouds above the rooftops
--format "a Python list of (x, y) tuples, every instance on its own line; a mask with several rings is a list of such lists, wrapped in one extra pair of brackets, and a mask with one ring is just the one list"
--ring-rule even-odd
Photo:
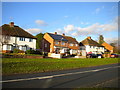
[(65, 33), (79, 42), (117, 40), (118, 17), (118, 2), (2, 2), (2, 25), (13, 21), (34, 36)]

